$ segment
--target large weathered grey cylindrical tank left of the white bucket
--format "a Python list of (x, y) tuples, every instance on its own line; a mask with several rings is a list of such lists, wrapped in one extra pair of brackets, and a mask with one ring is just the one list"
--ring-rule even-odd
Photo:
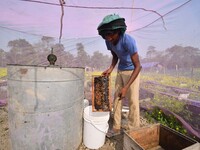
[(13, 150), (75, 150), (82, 142), (84, 68), (8, 65)]

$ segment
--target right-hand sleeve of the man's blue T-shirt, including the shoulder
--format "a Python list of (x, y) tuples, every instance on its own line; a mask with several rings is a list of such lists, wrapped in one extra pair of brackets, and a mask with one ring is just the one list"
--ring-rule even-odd
[(135, 40), (129, 35), (124, 37), (124, 48), (129, 51), (130, 55), (133, 55), (138, 51)]

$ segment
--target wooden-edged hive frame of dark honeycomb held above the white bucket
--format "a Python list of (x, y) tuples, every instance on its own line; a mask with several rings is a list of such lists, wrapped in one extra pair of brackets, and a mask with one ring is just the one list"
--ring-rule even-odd
[(92, 76), (92, 111), (111, 111), (108, 76)]

